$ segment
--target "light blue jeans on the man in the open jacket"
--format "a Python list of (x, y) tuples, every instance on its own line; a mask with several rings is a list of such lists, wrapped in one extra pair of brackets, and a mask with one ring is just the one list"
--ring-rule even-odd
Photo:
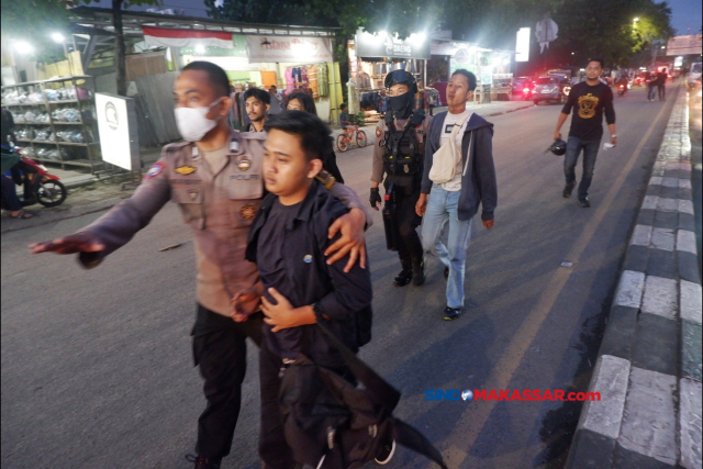
[[(423, 249), (439, 258), (449, 268), (447, 306), (464, 306), (464, 269), (466, 250), (471, 242), (471, 219), (459, 221), (457, 209), (461, 191), (449, 192), (433, 185), (427, 210), (422, 222)], [(443, 228), (449, 224), (447, 245), (442, 243)]]

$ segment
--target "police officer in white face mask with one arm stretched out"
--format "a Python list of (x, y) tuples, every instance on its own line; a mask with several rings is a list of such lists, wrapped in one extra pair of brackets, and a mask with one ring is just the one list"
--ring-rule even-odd
[[(200, 469), (220, 468), (230, 454), (246, 369), (245, 339), (259, 344), (263, 326), (261, 313), (255, 312), (259, 299), (249, 293), (259, 275), (244, 252), (264, 194), (266, 134), (231, 129), (228, 89), (227, 76), (216, 65), (186, 66), (174, 87), (176, 122), (186, 142), (164, 147), (134, 196), (94, 223), (77, 234), (30, 246), (34, 253), (79, 253), (80, 263), (92, 268), (145, 227), (167, 201), (179, 205), (192, 227), (198, 267), (191, 335), (208, 405), (198, 421), (198, 455), (191, 460)], [(327, 186), (352, 210), (331, 227), (331, 232), (342, 230), (343, 241), (325, 254), (336, 252), (328, 259), (335, 261), (352, 249), (353, 265), (357, 256), (365, 258), (364, 224), (370, 216), (359, 210), (361, 202), (353, 190)]]

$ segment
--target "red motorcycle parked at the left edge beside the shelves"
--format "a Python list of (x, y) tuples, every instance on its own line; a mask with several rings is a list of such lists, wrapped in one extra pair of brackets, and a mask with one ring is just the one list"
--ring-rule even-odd
[[(13, 153), (21, 156), (20, 161), (8, 172), (15, 185), (24, 187), (24, 193), (20, 198), (22, 206), (40, 203), (44, 206), (56, 206), (64, 203), (68, 191), (58, 176), (48, 172), (46, 166), (26, 156), (22, 156), (22, 148), (2, 146), (3, 153)], [(2, 208), (7, 209), (4, 200)]]

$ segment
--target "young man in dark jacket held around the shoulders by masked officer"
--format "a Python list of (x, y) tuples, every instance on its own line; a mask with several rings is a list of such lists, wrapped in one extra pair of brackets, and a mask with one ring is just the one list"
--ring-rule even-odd
[[(283, 434), (278, 404), (281, 370), (300, 353), (312, 361), (349, 371), (339, 353), (314, 324), (324, 322), (353, 351), (358, 350), (357, 316), (371, 314), (371, 278), (345, 259), (328, 265), (334, 243), (327, 228), (347, 210), (315, 180), (322, 156), (331, 150), (330, 129), (302, 111), (287, 111), (266, 122), (264, 199), (249, 232), (247, 260), (261, 276), (264, 340), (259, 358), (261, 433), (259, 454), (266, 468), (295, 467)], [(324, 444), (324, 442), (321, 442)]]

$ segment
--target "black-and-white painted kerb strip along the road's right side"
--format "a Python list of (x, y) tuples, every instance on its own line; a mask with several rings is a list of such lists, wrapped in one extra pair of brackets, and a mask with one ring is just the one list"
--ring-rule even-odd
[(701, 468), (701, 277), (687, 91), (633, 231), (567, 469)]

